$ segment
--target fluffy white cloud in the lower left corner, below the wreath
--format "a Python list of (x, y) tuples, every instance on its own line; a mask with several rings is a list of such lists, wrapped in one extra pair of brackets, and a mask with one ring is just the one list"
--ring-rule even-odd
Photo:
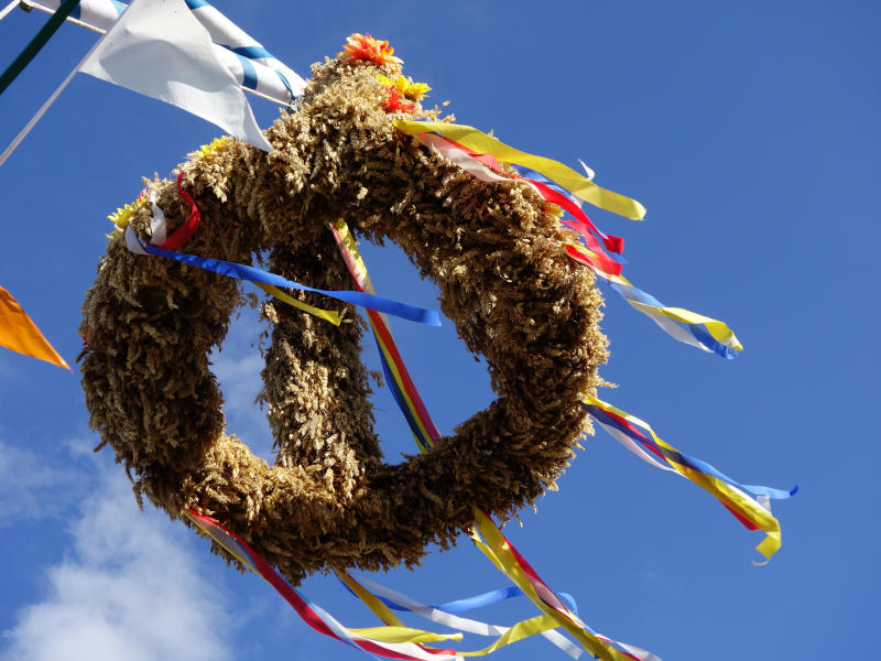
[(228, 597), (187, 550), (192, 532), (139, 511), (115, 468), (96, 476), (67, 556), (46, 573), (46, 598), (18, 613), (0, 661), (232, 658)]

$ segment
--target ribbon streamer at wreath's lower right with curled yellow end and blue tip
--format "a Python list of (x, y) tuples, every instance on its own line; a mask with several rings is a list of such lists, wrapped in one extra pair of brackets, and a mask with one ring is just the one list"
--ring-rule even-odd
[(764, 531), (766, 537), (755, 550), (765, 557), (765, 562), (780, 550), (780, 522), (771, 513), (770, 500), (790, 498), (798, 487), (787, 491), (741, 485), (706, 462), (668, 445), (649, 423), (630, 413), (592, 395), (588, 395), (581, 405), (602, 429), (633, 454), (657, 468), (678, 473), (713, 494), (743, 525)]

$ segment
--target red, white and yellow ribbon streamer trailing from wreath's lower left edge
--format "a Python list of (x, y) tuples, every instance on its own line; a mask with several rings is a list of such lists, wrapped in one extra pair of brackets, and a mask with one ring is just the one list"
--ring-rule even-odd
[(185, 510), (183, 516), (205, 534), (236, 557), (244, 567), (262, 576), (293, 607), (309, 627), (340, 642), (345, 642), (369, 654), (401, 661), (453, 661), (459, 659), (455, 650), (437, 650), (420, 644), (423, 641), (459, 639), (461, 633), (443, 635), (407, 627), (371, 627), (352, 629), (339, 624), (330, 614), (309, 602), (300, 590), (290, 585), (260, 554), (254, 552), (240, 537), (211, 517), (195, 510)]

